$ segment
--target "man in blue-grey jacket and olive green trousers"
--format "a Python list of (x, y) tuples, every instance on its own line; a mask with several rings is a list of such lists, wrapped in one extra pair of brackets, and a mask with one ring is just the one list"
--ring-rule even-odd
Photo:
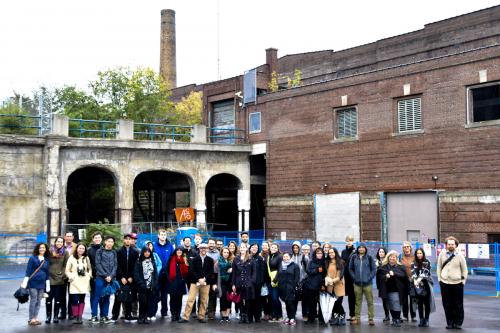
[(368, 303), (368, 323), (372, 326), (375, 325), (375, 321), (373, 320), (375, 310), (373, 307), (372, 281), (376, 272), (375, 261), (368, 254), (366, 245), (361, 243), (349, 261), (349, 273), (354, 282), (354, 294), (356, 296), (355, 317), (351, 321), (351, 325), (359, 324), (363, 295), (365, 295), (366, 302)]

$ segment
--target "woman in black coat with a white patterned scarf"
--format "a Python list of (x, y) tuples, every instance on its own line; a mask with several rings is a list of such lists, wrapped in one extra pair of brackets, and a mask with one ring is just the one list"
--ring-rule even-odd
[(158, 271), (153, 253), (145, 246), (135, 264), (134, 281), (139, 293), (139, 324), (149, 324), (158, 302)]

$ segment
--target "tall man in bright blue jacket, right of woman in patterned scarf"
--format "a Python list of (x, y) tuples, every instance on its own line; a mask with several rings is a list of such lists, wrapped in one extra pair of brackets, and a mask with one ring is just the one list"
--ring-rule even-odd
[(161, 271), (158, 275), (160, 284), (161, 316), (168, 316), (168, 261), (174, 253), (174, 246), (167, 239), (167, 230), (158, 230), (158, 240), (154, 243), (155, 252), (161, 259)]

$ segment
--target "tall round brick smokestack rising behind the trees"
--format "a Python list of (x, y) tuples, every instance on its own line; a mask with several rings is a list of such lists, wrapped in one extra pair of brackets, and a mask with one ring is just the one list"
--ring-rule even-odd
[(175, 11), (161, 11), (160, 75), (169, 88), (177, 87), (177, 67), (175, 60)]

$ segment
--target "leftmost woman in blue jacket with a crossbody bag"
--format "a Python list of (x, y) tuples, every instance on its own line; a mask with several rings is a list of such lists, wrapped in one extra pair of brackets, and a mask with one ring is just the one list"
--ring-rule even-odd
[(50, 275), (47, 245), (38, 243), (33, 250), (33, 255), (28, 260), (26, 274), (21, 288), (28, 289), (30, 294), (29, 320), (30, 326), (40, 325), (38, 312), (45, 292), (50, 292)]

